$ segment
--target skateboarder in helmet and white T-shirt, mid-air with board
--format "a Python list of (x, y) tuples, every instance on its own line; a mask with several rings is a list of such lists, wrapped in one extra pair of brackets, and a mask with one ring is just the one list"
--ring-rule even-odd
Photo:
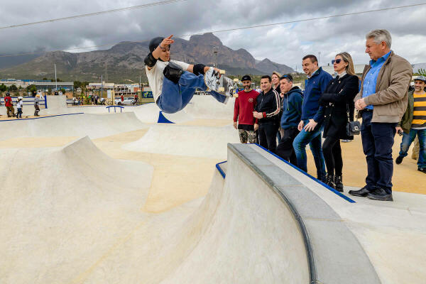
[(190, 102), (196, 89), (209, 92), (218, 102), (226, 104), (229, 97), (218, 92), (221, 70), (170, 60), (170, 45), (175, 42), (172, 37), (153, 38), (149, 42), (150, 53), (144, 60), (146, 76), (158, 107), (168, 114), (178, 112)]

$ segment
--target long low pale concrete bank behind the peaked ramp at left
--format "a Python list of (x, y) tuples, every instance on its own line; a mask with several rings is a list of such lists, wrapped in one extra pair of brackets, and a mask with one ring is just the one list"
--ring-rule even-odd
[(11, 137), (89, 136), (99, 138), (146, 127), (132, 112), (109, 115), (47, 116), (37, 119), (0, 121), (0, 126), (0, 141)]

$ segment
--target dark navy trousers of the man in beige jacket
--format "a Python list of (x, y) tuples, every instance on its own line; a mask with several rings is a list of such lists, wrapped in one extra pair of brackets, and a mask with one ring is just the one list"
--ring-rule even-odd
[(373, 111), (363, 111), (361, 125), (362, 148), (367, 160), (366, 187), (381, 187), (392, 193), (393, 158), (392, 146), (395, 123), (371, 122)]

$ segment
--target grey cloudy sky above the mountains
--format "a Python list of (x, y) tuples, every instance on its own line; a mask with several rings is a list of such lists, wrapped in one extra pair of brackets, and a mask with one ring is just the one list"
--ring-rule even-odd
[[(163, 0), (6, 1), (0, 6), (0, 27), (155, 1)], [(101, 16), (0, 28), (0, 54), (66, 50), (146, 40), (154, 35), (187, 35), (420, 3), (419, 0), (186, 0)], [(425, 16), (426, 5), (215, 35), (230, 48), (245, 48), (257, 59), (269, 58), (301, 70), (301, 58), (308, 53), (320, 53), (320, 63), (326, 65), (336, 53), (347, 51), (356, 64), (364, 64), (368, 62), (364, 53), (365, 34), (375, 28), (386, 28), (393, 36), (395, 53), (411, 63), (420, 63), (426, 62)]]

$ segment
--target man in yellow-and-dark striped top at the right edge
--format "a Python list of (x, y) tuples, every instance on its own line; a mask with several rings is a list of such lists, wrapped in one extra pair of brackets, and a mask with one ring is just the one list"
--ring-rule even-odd
[(419, 154), (417, 160), (417, 170), (426, 173), (426, 77), (420, 76), (414, 80), (414, 91), (408, 92), (407, 111), (396, 126), (396, 131), (403, 134), (403, 141), (400, 145), (400, 153), (395, 163), (403, 163), (403, 158), (408, 155), (408, 149), (414, 139), (419, 138)]

